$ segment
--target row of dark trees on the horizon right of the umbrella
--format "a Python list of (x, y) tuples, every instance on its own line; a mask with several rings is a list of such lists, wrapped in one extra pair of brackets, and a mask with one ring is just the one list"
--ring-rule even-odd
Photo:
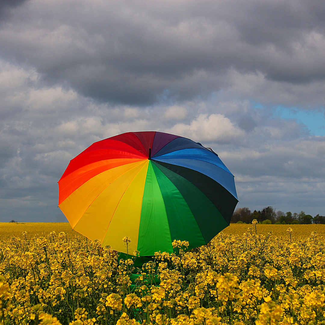
[(252, 223), (253, 219), (256, 219), (259, 223), (263, 224), (325, 224), (325, 216), (317, 214), (311, 216), (305, 214), (304, 211), (300, 213), (291, 213), (290, 211), (284, 213), (282, 211), (276, 211), (273, 207), (268, 206), (262, 211), (251, 212), (249, 208), (237, 208), (231, 218), (232, 223)]

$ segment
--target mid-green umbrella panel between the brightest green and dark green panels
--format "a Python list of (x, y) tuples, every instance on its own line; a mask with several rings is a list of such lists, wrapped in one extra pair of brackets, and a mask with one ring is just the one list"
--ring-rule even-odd
[(204, 245), (205, 240), (198, 223), (182, 194), (154, 163), (152, 167), (165, 203), (172, 241), (174, 239), (187, 240), (189, 249)]

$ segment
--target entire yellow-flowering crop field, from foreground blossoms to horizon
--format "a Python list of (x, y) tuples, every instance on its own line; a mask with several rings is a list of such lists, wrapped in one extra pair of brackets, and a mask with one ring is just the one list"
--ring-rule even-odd
[(325, 324), (324, 231), (231, 224), (206, 246), (174, 241), (150, 259), (67, 223), (2, 223), (0, 324)]

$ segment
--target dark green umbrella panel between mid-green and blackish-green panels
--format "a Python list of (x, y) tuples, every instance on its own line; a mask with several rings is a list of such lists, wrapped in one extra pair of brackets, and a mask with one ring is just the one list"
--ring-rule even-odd
[(205, 243), (208, 243), (216, 234), (228, 226), (227, 221), (219, 210), (200, 189), (184, 177), (158, 163), (153, 163), (172, 181), (182, 194), (201, 229)]

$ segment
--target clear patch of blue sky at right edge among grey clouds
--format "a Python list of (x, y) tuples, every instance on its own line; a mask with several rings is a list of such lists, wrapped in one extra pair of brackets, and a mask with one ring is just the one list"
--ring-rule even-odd
[(293, 119), (304, 123), (313, 136), (325, 136), (325, 110), (319, 108), (315, 110), (302, 110), (278, 106), (275, 115), (283, 119)]

